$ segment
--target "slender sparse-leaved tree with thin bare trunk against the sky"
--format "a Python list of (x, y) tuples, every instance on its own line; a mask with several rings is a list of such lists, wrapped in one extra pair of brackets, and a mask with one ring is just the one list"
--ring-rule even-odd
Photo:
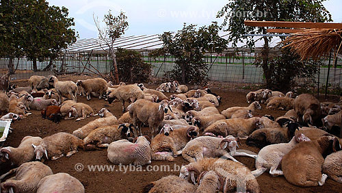
[(113, 60), (114, 66), (114, 77), (115, 83), (119, 83), (119, 73), (118, 73), (118, 65), (116, 64), (116, 47), (114, 47), (114, 41), (117, 38), (120, 38), (124, 34), (124, 31), (129, 26), (127, 22), (127, 16), (124, 15), (124, 12), (120, 12), (118, 16), (114, 16), (109, 10), (108, 14), (105, 14), (105, 18), (103, 22), (105, 23), (104, 27), (101, 27), (100, 21), (98, 18), (93, 16), (96, 28), (98, 29), (98, 38), (100, 38), (100, 44), (104, 51), (109, 54), (111, 60)]

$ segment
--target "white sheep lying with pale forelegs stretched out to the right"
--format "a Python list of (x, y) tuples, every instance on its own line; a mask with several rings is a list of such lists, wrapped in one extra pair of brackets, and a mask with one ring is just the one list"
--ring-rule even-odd
[[(226, 151), (228, 146), (229, 153)], [(234, 162), (238, 162), (234, 155), (246, 155), (255, 158), (256, 155), (249, 155), (243, 152), (237, 152), (237, 139), (233, 136), (226, 136), (226, 138), (217, 138), (213, 136), (200, 136), (194, 140), (189, 141), (183, 151), (182, 156), (188, 162), (197, 162), (203, 157), (228, 157)]]

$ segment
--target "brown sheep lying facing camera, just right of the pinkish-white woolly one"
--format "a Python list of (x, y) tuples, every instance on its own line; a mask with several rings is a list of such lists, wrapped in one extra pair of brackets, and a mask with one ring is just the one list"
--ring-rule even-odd
[(170, 125), (164, 125), (163, 129), (153, 138), (150, 144), (152, 159), (172, 162), (174, 156), (181, 155), (181, 150), (187, 142), (197, 136), (198, 127), (188, 126), (172, 129)]

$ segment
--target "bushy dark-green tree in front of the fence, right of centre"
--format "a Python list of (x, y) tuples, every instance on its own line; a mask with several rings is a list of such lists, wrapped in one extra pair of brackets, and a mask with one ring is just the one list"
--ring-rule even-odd
[[(172, 79), (182, 83), (203, 83), (207, 76), (207, 64), (203, 60), (205, 51), (221, 53), (228, 41), (218, 35), (219, 26), (196, 29), (196, 25), (184, 25), (176, 34), (164, 32), (160, 36), (163, 51), (176, 57), (175, 68), (170, 72)], [(181, 73), (180, 73), (181, 72)]]

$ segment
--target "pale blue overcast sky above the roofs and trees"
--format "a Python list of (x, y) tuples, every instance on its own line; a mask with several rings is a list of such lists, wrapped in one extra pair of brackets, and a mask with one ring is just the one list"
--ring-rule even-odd
[[(75, 18), (79, 38), (97, 38), (98, 31), (93, 16), (100, 21), (111, 10), (115, 15), (126, 13), (129, 27), (124, 36), (162, 34), (177, 31), (183, 23), (198, 26), (210, 25), (211, 21), (222, 23), (216, 14), (228, 0), (47, 0), (49, 5), (64, 6), (69, 16)], [(324, 2), (334, 22), (342, 23), (342, 1)]]

